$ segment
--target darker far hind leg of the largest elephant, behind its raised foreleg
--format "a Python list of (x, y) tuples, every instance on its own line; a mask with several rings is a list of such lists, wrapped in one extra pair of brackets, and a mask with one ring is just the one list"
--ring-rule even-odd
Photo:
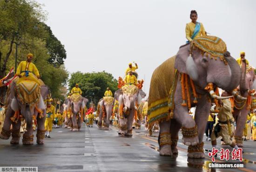
[(171, 149), (173, 154), (178, 154), (177, 143), (179, 139), (179, 131), (182, 128), (182, 125), (176, 120), (171, 119)]

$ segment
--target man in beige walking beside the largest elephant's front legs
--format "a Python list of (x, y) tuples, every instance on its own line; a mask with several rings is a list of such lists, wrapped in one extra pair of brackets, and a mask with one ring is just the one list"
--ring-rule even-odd
[[(228, 93), (223, 92), (222, 97), (227, 97)], [(218, 115), (218, 122), (216, 126), (214, 127), (214, 132), (211, 134), (211, 144), (212, 147), (216, 148), (217, 141), (216, 139), (218, 137), (222, 137), (224, 143), (226, 145), (229, 145), (235, 149), (238, 149), (239, 147), (236, 146), (236, 143), (231, 140), (231, 137), (233, 136), (234, 130), (234, 118), (232, 115), (232, 107), (231, 102), (229, 99), (223, 99), (219, 100), (219, 115)]]

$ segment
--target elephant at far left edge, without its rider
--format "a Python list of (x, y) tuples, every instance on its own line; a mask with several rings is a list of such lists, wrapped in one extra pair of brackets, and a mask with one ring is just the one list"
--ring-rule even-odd
[[(17, 78), (10, 84), (7, 91), (7, 112), (4, 121), (3, 131), (0, 134), (1, 139), (9, 139), (12, 133), (11, 144), (19, 144), (20, 142), (20, 126), (22, 119), (26, 120), (27, 131), (23, 134), (23, 145), (34, 144), (33, 140), (33, 119), (37, 121), (37, 144), (43, 144), (45, 129), (44, 123), (46, 118), (46, 106), (44, 99), (49, 94), (49, 88), (41, 80), (41, 86), (34, 82), (22, 82), (16, 85)], [(21, 89), (21, 87), (24, 89)], [(33, 86), (33, 87), (32, 87)], [(24, 91), (30, 92), (30, 97), (34, 102), (28, 102), (24, 96), (28, 96)], [(30, 100), (31, 100), (30, 99)], [(19, 116), (22, 115), (20, 118)], [(13, 120), (11, 120), (13, 119)], [(15, 120), (15, 121), (14, 121)], [(11, 130), (12, 125), (12, 130)]]

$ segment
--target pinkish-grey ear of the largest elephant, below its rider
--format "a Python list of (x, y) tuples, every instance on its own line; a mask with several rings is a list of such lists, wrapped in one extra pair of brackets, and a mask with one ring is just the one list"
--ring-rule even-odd
[(186, 44), (180, 47), (178, 53), (175, 58), (175, 69), (177, 69), (181, 73), (188, 73), (186, 69), (186, 62), (189, 57), (190, 44)]

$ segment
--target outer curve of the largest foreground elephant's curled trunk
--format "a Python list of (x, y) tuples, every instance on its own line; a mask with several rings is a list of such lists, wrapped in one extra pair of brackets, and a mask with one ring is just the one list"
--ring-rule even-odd
[(225, 57), (227, 62), (229, 63), (230, 71), (231, 71), (231, 79), (226, 88), (223, 88), (226, 91), (231, 92), (232, 90), (236, 89), (236, 87), (239, 85), (241, 80), (241, 69), (236, 60), (228, 54), (228, 56)]

